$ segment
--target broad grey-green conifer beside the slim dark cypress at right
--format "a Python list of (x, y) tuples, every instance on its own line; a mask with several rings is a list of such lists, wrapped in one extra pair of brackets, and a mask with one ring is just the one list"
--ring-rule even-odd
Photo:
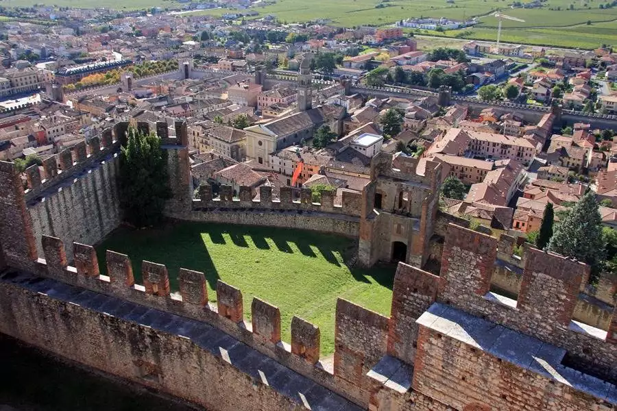
[(548, 250), (586, 262), (597, 273), (604, 257), (601, 223), (595, 193), (590, 190), (561, 221), (548, 242)]

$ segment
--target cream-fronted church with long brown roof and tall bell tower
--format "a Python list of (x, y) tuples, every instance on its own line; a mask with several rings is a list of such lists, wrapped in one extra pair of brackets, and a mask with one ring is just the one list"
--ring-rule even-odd
[(266, 168), (271, 166), (271, 153), (297, 145), (303, 139), (313, 138), (315, 131), (324, 124), (330, 126), (332, 132), (341, 135), (345, 108), (339, 105), (319, 105), (313, 108), (310, 65), (310, 55), (306, 55), (300, 63), (298, 109), (293, 114), (244, 129), (247, 157)]

